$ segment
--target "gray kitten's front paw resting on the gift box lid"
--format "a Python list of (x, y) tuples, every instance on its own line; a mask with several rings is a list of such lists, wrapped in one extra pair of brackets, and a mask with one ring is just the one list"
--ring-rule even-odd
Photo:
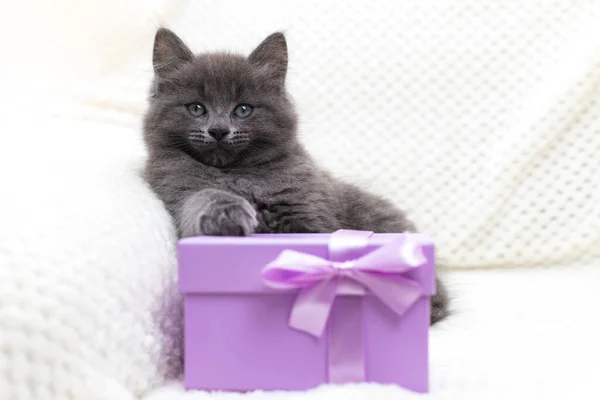
[(188, 204), (181, 236), (247, 236), (257, 226), (256, 211), (244, 198), (221, 192), (197, 206)]

